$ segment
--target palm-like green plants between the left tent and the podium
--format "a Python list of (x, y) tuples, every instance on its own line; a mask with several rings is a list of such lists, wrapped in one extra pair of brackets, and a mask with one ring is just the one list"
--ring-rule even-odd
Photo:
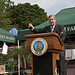
[[(32, 54), (27, 51), (25, 43), (22, 43), (21, 48), (15, 47), (13, 50), (8, 51), (6, 56), (0, 57), (0, 64), (8, 64), (11, 67), (15, 67), (18, 64), (18, 54), (20, 55), (20, 60), (24, 69), (26, 69), (25, 64), (32, 60)], [(9, 61), (13, 58), (13, 61)]]

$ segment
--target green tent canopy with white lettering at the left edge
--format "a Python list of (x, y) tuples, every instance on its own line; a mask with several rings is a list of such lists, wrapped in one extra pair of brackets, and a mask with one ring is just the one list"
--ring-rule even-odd
[(0, 41), (15, 43), (16, 35), (11, 34), (8, 31), (5, 31), (3, 29), (0, 29)]

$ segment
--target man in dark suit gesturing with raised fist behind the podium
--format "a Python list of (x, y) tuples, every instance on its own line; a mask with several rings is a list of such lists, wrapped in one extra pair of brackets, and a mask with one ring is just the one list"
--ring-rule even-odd
[[(35, 29), (35, 27), (31, 23), (29, 24), (28, 28), (35, 34), (55, 32), (60, 36), (61, 41), (64, 42), (66, 38), (64, 26), (56, 24), (56, 18), (54, 15), (50, 15), (48, 17), (48, 21), (50, 25), (46, 26), (42, 30)], [(61, 53), (59, 54), (59, 58), (59, 61), (57, 61), (57, 69), (59, 70), (59, 75), (67, 75), (65, 67), (65, 50), (61, 51)]]

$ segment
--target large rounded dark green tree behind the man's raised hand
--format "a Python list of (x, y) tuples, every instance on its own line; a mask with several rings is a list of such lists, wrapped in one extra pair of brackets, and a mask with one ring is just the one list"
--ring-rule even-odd
[(28, 28), (29, 23), (36, 26), (47, 20), (47, 13), (37, 4), (31, 5), (30, 3), (25, 3), (13, 5), (8, 10), (10, 10), (11, 25), (17, 24), (21, 29)]

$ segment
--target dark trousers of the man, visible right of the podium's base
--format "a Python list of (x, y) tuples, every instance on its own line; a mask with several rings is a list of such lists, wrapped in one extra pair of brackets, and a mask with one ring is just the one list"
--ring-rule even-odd
[(61, 51), (61, 53), (59, 54), (59, 57), (60, 59), (57, 60), (57, 69), (58, 69), (59, 75), (67, 75), (64, 50)]

